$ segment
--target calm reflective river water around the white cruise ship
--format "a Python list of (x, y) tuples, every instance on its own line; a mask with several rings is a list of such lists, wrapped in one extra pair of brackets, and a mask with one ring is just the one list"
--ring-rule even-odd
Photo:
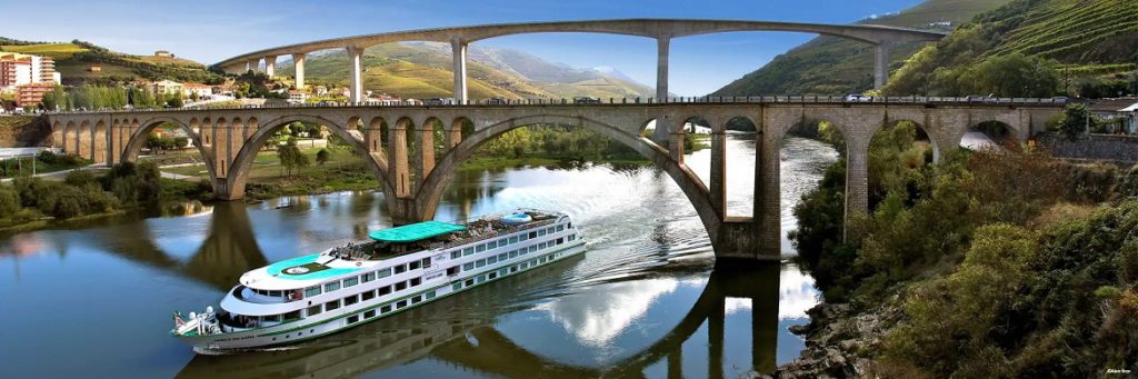
[[(733, 215), (751, 208), (752, 134), (728, 135)], [(783, 147), (783, 229), (833, 149)], [(709, 153), (687, 164), (708, 178)], [(216, 304), (246, 271), (390, 225), (382, 195), (181, 204), (0, 236), (0, 378), (739, 377), (803, 348), (813, 280), (792, 264), (716, 269), (667, 174), (594, 165), (462, 172), (437, 220), (535, 207), (569, 213), (584, 255), (298, 346), (195, 355), (174, 310)], [(793, 254), (789, 242), (783, 250)]]

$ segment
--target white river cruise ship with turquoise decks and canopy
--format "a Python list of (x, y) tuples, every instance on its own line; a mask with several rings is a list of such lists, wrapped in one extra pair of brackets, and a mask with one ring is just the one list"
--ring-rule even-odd
[(220, 310), (175, 312), (171, 335), (203, 354), (295, 344), (585, 252), (568, 215), (534, 209), (368, 237), (249, 271)]

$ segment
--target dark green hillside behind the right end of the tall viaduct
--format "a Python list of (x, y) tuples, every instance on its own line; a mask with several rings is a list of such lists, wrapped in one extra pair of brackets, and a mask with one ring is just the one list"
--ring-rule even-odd
[[(1009, 0), (927, 0), (897, 15), (863, 24), (930, 28), (934, 22), (954, 25), (996, 9)], [(947, 30), (945, 30), (947, 31)], [(897, 68), (922, 48), (905, 44), (890, 50)], [(874, 49), (866, 43), (833, 36), (814, 40), (775, 57), (758, 71), (735, 80), (712, 96), (843, 94), (873, 88)]]

